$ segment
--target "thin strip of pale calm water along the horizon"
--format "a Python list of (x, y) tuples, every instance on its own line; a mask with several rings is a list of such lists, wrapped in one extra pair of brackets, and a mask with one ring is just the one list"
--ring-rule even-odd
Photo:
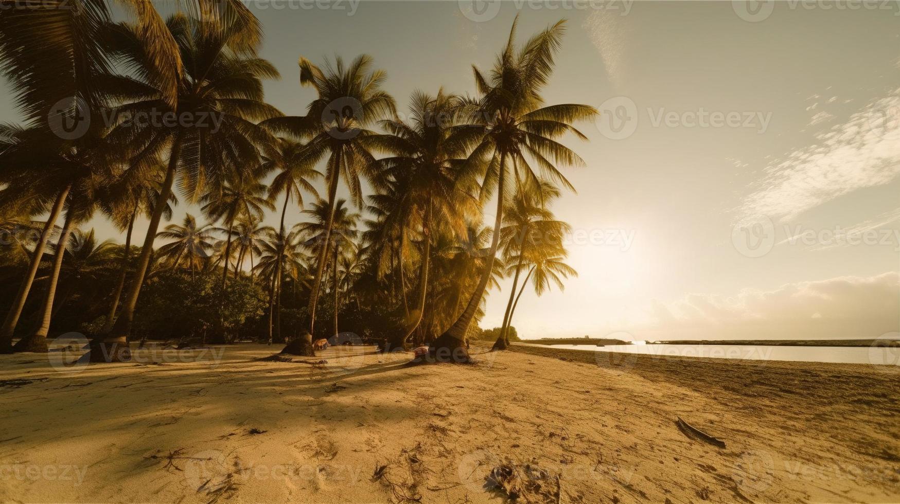
[(652, 356), (715, 357), (770, 361), (801, 361), (847, 364), (900, 365), (897, 347), (773, 347), (770, 345), (535, 345), (590, 352), (621, 352)]

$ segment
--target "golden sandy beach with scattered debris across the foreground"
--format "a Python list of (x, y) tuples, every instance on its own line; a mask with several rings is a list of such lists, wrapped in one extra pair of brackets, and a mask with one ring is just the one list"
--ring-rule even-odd
[(530, 502), (900, 500), (896, 373), (515, 348), (2, 356), (0, 500), (502, 502), (500, 466)]

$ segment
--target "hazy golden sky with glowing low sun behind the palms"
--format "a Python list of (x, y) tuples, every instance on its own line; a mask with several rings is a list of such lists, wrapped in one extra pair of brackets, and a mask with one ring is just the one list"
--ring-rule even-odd
[[(578, 192), (552, 208), (572, 224), (579, 275), (564, 292), (527, 289), (513, 322), (523, 338), (900, 330), (900, 4), (248, 5), (282, 73), (267, 101), (291, 115), (312, 98), (300, 56), (372, 55), (405, 110), (416, 89), (474, 94), (472, 66), (491, 67), (517, 14), (520, 41), (567, 19), (545, 102), (601, 112), (578, 125), (588, 141), (563, 139), (586, 166), (564, 168)], [(0, 96), (0, 118), (16, 117)], [(491, 292), (483, 328), (500, 325), (510, 284)]]

